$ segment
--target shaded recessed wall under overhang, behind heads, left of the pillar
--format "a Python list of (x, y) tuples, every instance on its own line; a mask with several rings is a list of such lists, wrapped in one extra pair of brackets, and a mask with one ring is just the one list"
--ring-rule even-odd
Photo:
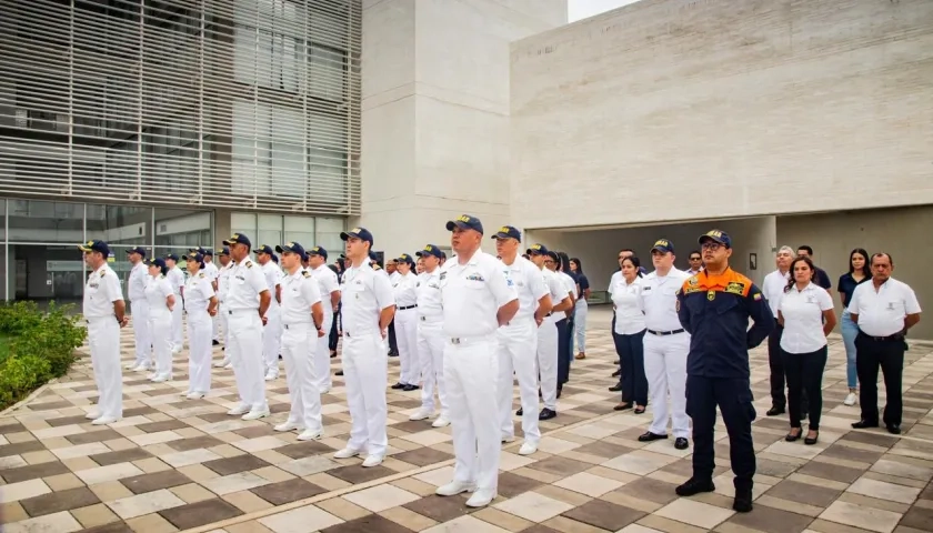
[[(675, 264), (681, 270), (690, 266), (686, 258), (691, 250), (699, 249), (698, 239), (713, 228), (725, 230), (732, 237), (734, 251), (732, 268), (744, 273), (752, 281), (761, 283), (765, 274), (774, 270), (772, 249), (775, 243), (774, 218), (763, 217), (744, 220), (713, 220), (710, 222), (656, 225), (646, 228), (592, 230), (592, 231), (529, 231), (526, 245), (541, 242), (552, 250), (565, 251), (580, 258), (583, 271), (594, 291), (604, 291), (609, 279), (619, 269), (616, 257), (620, 249), (630, 248), (650, 271), (651, 247), (658, 239), (674, 243)], [(749, 254), (758, 254), (758, 270), (749, 266)]]

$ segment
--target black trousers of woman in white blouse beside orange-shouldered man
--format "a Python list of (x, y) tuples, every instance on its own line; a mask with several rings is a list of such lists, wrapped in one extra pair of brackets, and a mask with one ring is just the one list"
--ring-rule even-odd
[(810, 353), (784, 352), (784, 372), (787, 376), (787, 411), (791, 428), (801, 428), (803, 394), (809, 401), (810, 430), (820, 431), (823, 410), (823, 370), (826, 368), (826, 346)]

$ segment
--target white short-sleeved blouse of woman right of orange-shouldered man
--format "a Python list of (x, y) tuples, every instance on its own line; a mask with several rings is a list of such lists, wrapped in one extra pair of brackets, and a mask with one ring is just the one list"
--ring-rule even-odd
[(784, 318), (781, 350), (811, 353), (826, 345), (823, 311), (833, 309), (833, 296), (825, 289), (812, 282), (803, 290), (794, 284), (784, 293), (779, 309)]

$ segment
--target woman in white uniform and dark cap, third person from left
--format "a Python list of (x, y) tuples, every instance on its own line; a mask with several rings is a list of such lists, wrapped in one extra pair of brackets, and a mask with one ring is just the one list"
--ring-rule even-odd
[(149, 304), (149, 331), (152, 335), (152, 351), (156, 353), (156, 372), (149, 380), (156, 383), (172, 379), (172, 309), (174, 291), (165, 278), (168, 266), (162, 259), (147, 259), (149, 275), (146, 284), (146, 302)]

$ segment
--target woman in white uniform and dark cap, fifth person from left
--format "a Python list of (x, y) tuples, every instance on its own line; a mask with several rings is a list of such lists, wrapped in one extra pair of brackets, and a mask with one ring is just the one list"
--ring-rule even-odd
[(183, 255), (188, 262), (184, 283), (184, 312), (188, 313), (188, 391), (189, 400), (204, 398), (211, 391), (211, 336), (217, 314), (217, 296), (210, 278), (201, 270), (204, 258), (200, 253)]

